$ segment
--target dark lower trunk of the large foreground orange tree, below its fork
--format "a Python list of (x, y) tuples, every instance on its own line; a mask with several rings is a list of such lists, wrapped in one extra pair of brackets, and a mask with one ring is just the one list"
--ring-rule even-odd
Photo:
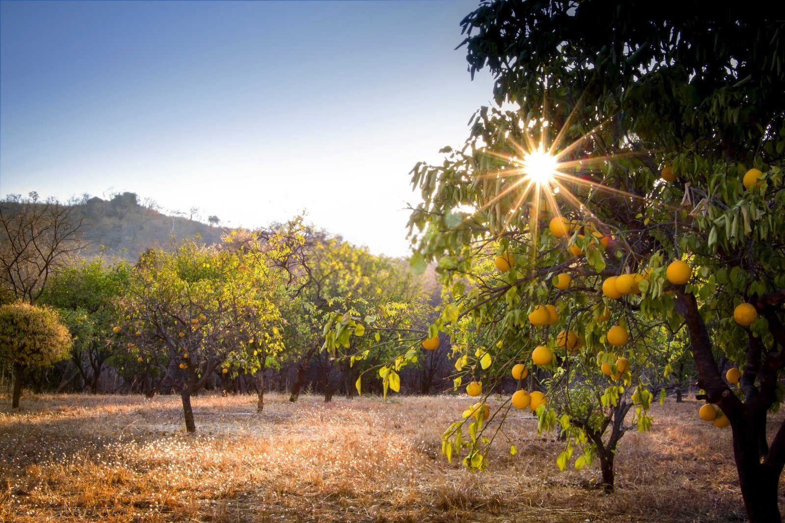
[[(750, 517), (750, 523), (780, 523), (780, 508), (777, 506), (780, 485), (780, 473), (768, 463), (761, 463), (761, 430), (765, 423), (748, 423), (733, 430), (733, 455), (736, 458), (736, 469), (739, 471), (739, 485), (744, 507)], [(765, 438), (765, 434), (762, 434)], [(764, 439), (765, 441), (765, 439)]]

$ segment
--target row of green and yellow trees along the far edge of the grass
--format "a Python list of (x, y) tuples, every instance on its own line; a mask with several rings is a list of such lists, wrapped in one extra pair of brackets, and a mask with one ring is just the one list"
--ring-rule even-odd
[[(250, 382), (261, 411), (265, 371), (284, 365), (296, 369), (293, 401), (306, 377), (329, 401), (392, 358), (400, 332), (422, 331), (438, 299), (404, 260), (373, 256), (300, 218), (267, 231), (234, 231), (220, 245), (185, 240), (170, 252), (149, 249), (137, 263), (109, 263), (70, 256), (82, 223), (74, 208), (27, 203), (27, 212), (2, 216), (3, 300), (10, 304), (0, 314), (0, 362), (13, 376), (14, 407), (30, 378), (96, 393), (102, 376), (104, 390), (113, 376), (126, 390), (177, 391), (192, 431), (193, 394), (246, 390)], [(322, 350), (326, 318), (349, 311), (378, 318), (389, 332), (341, 347), (362, 357), (329, 355)], [(446, 350), (434, 352), (418, 373), (425, 391), (448, 372)], [(57, 372), (42, 371), (57, 361)]]

